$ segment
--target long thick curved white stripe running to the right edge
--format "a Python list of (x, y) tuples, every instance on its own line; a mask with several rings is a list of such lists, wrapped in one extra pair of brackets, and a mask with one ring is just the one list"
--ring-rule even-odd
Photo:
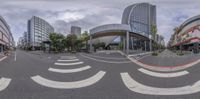
[(186, 95), (200, 92), (200, 80), (192, 85), (175, 88), (157, 88), (138, 83), (128, 73), (121, 73), (125, 86), (134, 92), (148, 95)]

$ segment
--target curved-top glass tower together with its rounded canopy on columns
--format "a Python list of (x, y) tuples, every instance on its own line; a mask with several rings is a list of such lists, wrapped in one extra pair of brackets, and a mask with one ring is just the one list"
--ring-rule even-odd
[(92, 28), (90, 38), (111, 36), (112, 39), (113, 36), (120, 36), (124, 45), (123, 50), (127, 53), (129, 49), (148, 51), (152, 49), (152, 42), (158, 43), (156, 37), (152, 38), (151, 35), (153, 27), (157, 28), (156, 26), (156, 6), (137, 3), (125, 8), (121, 24), (107, 24)]

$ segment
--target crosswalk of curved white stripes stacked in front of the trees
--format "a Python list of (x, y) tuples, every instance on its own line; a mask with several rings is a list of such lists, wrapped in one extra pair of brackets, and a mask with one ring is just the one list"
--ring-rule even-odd
[[(76, 58), (75, 56), (61, 56), (60, 59), (58, 59), (54, 65), (55, 66), (75, 66), (75, 65), (83, 65), (84, 62), (79, 61), (78, 58)], [(74, 68), (74, 69), (58, 69), (58, 68), (54, 68), (54, 67), (50, 67), (48, 69), (48, 71), (51, 72), (55, 72), (55, 73), (76, 73), (76, 72), (81, 72), (81, 71), (85, 71), (92, 68), (89, 65), (84, 65), (80, 68)], [(42, 85), (45, 87), (49, 87), (49, 88), (56, 88), (56, 89), (75, 89), (75, 88), (82, 88), (82, 87), (87, 87), (90, 85), (93, 85), (95, 83), (97, 83), (98, 81), (100, 81), (104, 75), (106, 74), (105, 71), (99, 71), (98, 73), (94, 74), (93, 76), (83, 79), (83, 80), (79, 80), (79, 81), (70, 81), (70, 82), (63, 82), (63, 81), (54, 81), (54, 80), (50, 80), (47, 78), (44, 78), (40, 75), (36, 75), (31, 77), (31, 79)]]

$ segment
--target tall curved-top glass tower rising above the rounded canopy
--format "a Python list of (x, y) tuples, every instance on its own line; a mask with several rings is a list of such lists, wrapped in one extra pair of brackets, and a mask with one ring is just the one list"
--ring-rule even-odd
[(125, 8), (122, 24), (128, 24), (132, 32), (149, 37), (152, 26), (156, 26), (156, 6), (136, 3)]

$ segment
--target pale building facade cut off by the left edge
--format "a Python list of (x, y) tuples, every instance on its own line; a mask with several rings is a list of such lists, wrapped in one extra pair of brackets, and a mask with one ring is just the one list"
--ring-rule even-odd
[(0, 53), (15, 46), (10, 27), (5, 19), (0, 16)]

